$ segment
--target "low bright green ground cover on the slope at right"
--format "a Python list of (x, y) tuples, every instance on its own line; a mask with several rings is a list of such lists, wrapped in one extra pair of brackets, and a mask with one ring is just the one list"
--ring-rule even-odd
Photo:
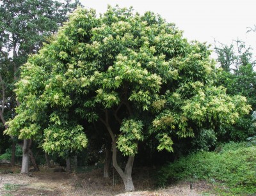
[(199, 152), (168, 163), (158, 175), (162, 186), (196, 179), (226, 186), (225, 191), (218, 190), (225, 195), (256, 193), (256, 147), (232, 142), (219, 147), (216, 152)]

